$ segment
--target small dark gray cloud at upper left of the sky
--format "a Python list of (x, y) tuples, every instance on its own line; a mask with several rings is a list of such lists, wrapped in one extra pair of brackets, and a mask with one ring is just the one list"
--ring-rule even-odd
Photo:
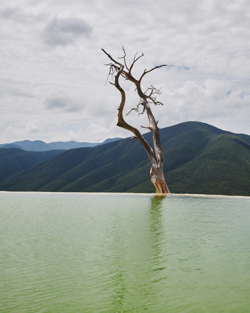
[(42, 38), (49, 46), (66, 46), (82, 35), (89, 35), (92, 27), (82, 18), (52, 18), (45, 27)]

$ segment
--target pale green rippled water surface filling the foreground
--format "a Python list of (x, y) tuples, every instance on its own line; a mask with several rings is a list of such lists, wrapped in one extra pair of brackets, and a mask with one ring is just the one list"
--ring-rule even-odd
[(0, 312), (250, 312), (250, 198), (0, 192)]

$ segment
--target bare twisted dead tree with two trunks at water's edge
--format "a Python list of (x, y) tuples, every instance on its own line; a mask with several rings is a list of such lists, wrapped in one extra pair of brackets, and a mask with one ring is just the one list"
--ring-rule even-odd
[[(132, 131), (135, 136), (133, 136), (130, 140), (138, 139), (142, 143), (146, 152), (148, 153), (148, 157), (152, 163), (152, 167), (150, 170), (151, 181), (153, 182), (157, 193), (170, 193), (168, 186), (165, 182), (164, 176), (163, 176), (163, 151), (162, 151), (161, 140), (160, 140), (160, 136), (159, 136), (159, 128), (157, 125), (158, 121), (155, 120), (153, 113), (151, 111), (150, 105), (149, 105), (149, 103), (153, 103), (154, 105), (163, 105), (161, 102), (156, 100), (156, 96), (160, 94), (160, 90), (153, 87), (152, 85), (150, 87), (148, 87), (148, 89), (145, 92), (143, 92), (141, 89), (141, 81), (146, 74), (153, 71), (154, 69), (158, 69), (162, 66), (169, 66), (169, 65), (164, 64), (164, 65), (156, 66), (153, 69), (150, 69), (148, 71), (145, 69), (143, 74), (139, 78), (139, 80), (137, 80), (131, 74), (131, 70), (133, 69), (135, 62), (138, 61), (138, 59), (140, 59), (144, 54), (142, 54), (138, 57), (136, 57), (137, 56), (137, 54), (136, 54), (134, 56), (133, 63), (130, 65), (130, 67), (128, 67), (127, 63), (126, 63), (126, 53), (125, 53), (124, 48), (123, 48), (124, 56), (119, 58), (119, 59), (123, 59), (124, 64), (113, 59), (111, 57), (111, 55), (108, 54), (104, 49), (102, 49), (102, 50), (105, 54), (107, 54), (109, 59), (112, 61), (112, 63), (105, 64), (106, 66), (109, 66), (108, 76), (109, 75), (112, 75), (112, 77), (115, 76), (114, 82), (110, 82), (110, 84), (116, 86), (116, 88), (120, 91), (121, 98), (122, 98), (120, 106), (118, 108), (117, 126), (125, 128), (129, 131)], [(149, 146), (148, 142), (142, 136), (140, 131), (138, 131), (137, 128), (129, 125), (126, 121), (124, 121), (123, 108), (125, 105), (126, 95), (125, 95), (125, 91), (123, 90), (123, 88), (119, 84), (120, 76), (125, 78), (125, 80), (131, 81), (136, 86), (136, 90), (137, 90), (137, 93), (139, 95), (140, 101), (135, 108), (131, 109), (128, 112), (128, 114), (133, 110), (138, 112), (139, 114), (143, 114), (146, 111), (146, 113), (148, 115), (149, 126), (141, 126), (141, 127), (147, 128), (152, 132), (154, 151)], [(139, 111), (140, 105), (142, 106), (142, 112), (141, 113)]]

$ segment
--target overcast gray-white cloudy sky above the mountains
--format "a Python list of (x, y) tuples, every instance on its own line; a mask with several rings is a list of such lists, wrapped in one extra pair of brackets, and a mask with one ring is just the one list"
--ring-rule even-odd
[[(249, 0), (2, 0), (0, 143), (99, 142), (128, 137), (116, 126), (120, 94), (107, 84), (107, 56), (162, 88), (159, 127), (202, 121), (250, 134)], [(125, 112), (138, 103), (134, 86)], [(126, 120), (147, 125), (146, 116)], [(143, 131), (143, 130), (142, 130)], [(144, 130), (145, 132), (145, 130)]]

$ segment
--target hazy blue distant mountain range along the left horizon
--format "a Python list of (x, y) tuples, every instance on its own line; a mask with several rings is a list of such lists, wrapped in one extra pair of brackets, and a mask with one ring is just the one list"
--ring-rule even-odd
[(19, 148), (27, 151), (49, 151), (49, 150), (55, 150), (55, 149), (63, 149), (63, 150), (69, 150), (74, 148), (83, 148), (83, 147), (94, 147), (103, 145), (108, 142), (112, 142), (115, 140), (119, 140), (122, 138), (108, 138), (103, 142), (77, 142), (77, 141), (57, 141), (57, 142), (50, 142), (46, 143), (41, 140), (23, 140), (23, 141), (15, 141), (12, 143), (4, 143), (0, 145), (0, 148)]

